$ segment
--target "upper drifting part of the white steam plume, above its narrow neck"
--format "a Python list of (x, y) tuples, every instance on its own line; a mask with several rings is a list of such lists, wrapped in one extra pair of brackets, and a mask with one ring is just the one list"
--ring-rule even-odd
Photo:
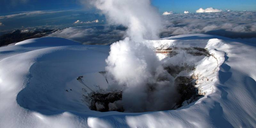
[(94, 0), (91, 3), (101, 10), (108, 23), (127, 27), (126, 36), (132, 40), (158, 38), (160, 16), (150, 0)]

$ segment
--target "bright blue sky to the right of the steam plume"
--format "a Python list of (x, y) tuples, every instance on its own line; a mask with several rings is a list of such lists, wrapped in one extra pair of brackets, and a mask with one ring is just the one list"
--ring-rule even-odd
[(199, 8), (209, 7), (233, 11), (256, 10), (256, 0), (153, 0), (152, 4), (158, 7), (159, 12), (196, 12)]

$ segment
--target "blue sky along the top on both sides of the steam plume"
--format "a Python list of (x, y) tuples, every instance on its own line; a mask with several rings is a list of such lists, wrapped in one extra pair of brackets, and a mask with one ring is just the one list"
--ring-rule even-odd
[[(199, 8), (213, 7), (221, 10), (256, 11), (256, 0), (152, 0), (159, 12), (195, 12)], [(0, 15), (38, 10), (82, 9), (79, 0), (1, 0)]]

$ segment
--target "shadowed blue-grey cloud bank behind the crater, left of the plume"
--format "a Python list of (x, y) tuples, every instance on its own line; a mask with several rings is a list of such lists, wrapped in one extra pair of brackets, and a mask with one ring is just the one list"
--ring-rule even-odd
[(49, 37), (62, 37), (82, 44), (109, 45), (123, 39), (126, 28), (115, 26), (70, 27), (54, 32)]

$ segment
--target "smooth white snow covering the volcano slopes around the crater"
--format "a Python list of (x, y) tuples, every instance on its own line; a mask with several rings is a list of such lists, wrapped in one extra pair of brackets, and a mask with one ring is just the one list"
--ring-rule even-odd
[(99, 72), (105, 70), (109, 46), (35, 38), (0, 47), (0, 127), (256, 127), (255, 45), (204, 34), (146, 42), (155, 49), (206, 48), (212, 56), (197, 59), (157, 53), (172, 64), (184, 58), (194, 63), (196, 87), (204, 96), (176, 110), (92, 111), (82, 100), (88, 88), (77, 77), (83, 75), (92, 90), (106, 88)]

